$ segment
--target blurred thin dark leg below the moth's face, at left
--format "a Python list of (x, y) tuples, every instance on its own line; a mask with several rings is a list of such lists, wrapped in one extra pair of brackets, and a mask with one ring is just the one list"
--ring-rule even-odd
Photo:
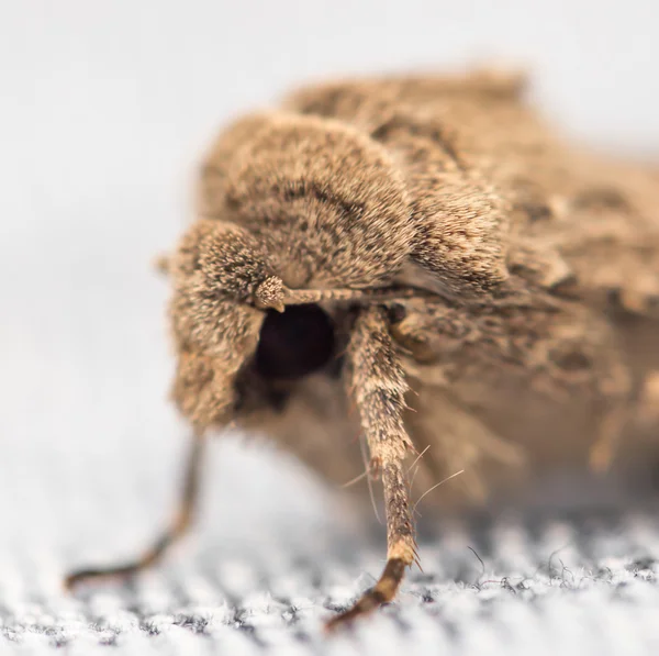
[(188, 456), (182, 494), (174, 520), (169, 527), (156, 540), (153, 546), (142, 556), (123, 565), (78, 569), (65, 579), (65, 587), (70, 590), (80, 582), (99, 578), (127, 578), (157, 563), (190, 527), (199, 498), (201, 463), (203, 460), (205, 438), (196, 436)]

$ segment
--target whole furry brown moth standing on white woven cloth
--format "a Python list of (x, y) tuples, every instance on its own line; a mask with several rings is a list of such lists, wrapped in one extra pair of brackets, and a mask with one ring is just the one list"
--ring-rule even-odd
[(368, 448), (387, 564), (330, 627), (392, 600), (416, 559), (411, 462), (426, 488), (463, 469), (469, 501), (657, 452), (659, 167), (568, 143), (525, 90), (494, 70), (344, 80), (220, 134), (164, 260), (194, 435), (180, 505), (141, 558), (69, 587), (166, 552), (230, 424), (336, 482)]

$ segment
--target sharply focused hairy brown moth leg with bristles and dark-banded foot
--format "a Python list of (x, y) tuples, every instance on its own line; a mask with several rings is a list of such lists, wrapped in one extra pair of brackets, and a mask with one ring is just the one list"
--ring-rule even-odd
[(373, 588), (353, 608), (333, 618), (327, 629), (346, 624), (391, 601), (405, 567), (416, 560), (407, 472), (403, 460), (412, 442), (403, 425), (407, 385), (389, 335), (384, 310), (371, 307), (358, 319), (348, 346), (351, 397), (371, 455), (381, 472), (387, 510), (387, 565)]

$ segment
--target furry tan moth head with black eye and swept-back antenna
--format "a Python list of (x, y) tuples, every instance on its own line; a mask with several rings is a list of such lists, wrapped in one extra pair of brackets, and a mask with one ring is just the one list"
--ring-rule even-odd
[(350, 309), (412, 291), (291, 289), (264, 244), (241, 225), (200, 220), (171, 260), (174, 398), (199, 429), (280, 402), (312, 374), (336, 376)]

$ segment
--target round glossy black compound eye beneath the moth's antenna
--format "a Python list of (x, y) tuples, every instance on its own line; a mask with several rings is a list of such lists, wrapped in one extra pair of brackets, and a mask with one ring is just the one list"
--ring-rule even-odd
[(256, 349), (256, 370), (270, 380), (294, 380), (323, 368), (334, 355), (334, 325), (315, 304), (269, 310)]

